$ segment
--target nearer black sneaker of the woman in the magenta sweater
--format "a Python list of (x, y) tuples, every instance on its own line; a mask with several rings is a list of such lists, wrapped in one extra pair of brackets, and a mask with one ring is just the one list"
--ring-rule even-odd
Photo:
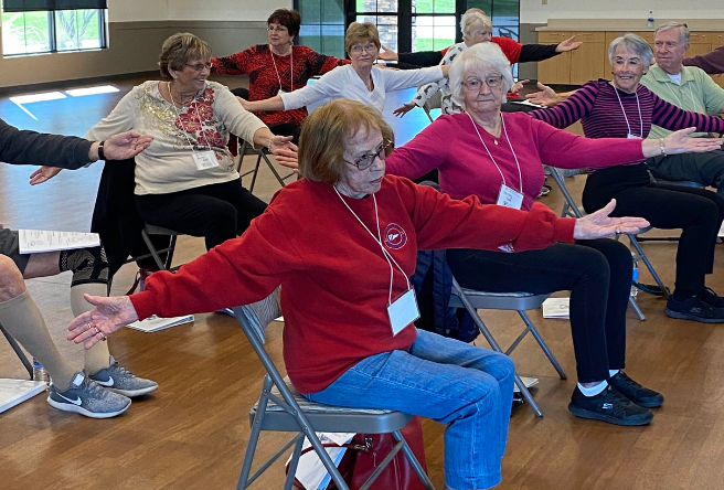
[(576, 417), (615, 425), (646, 425), (653, 418), (650, 409), (638, 406), (610, 385), (596, 396), (586, 396), (576, 386), (571, 395), (568, 412)]

